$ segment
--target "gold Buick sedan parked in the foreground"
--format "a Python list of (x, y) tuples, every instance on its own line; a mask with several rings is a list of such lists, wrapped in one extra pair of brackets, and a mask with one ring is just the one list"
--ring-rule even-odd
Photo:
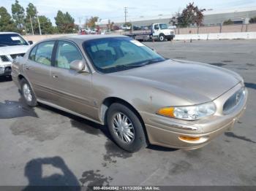
[(68, 36), (34, 44), (12, 63), (26, 104), (107, 125), (119, 147), (197, 149), (246, 109), (244, 80), (205, 63), (163, 58), (127, 36)]

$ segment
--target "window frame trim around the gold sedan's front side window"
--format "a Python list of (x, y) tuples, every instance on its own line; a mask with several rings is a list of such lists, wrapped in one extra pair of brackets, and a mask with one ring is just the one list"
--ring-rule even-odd
[[(69, 42), (70, 44), (75, 45), (75, 47), (78, 49), (78, 52), (80, 52), (80, 55), (83, 58), (83, 62), (86, 64), (86, 67), (89, 69), (89, 73), (92, 74), (91, 68), (89, 67), (89, 64), (87, 63), (86, 58), (83, 55), (83, 52), (78, 47), (78, 44), (76, 44), (75, 42), (72, 42), (70, 40), (67, 40), (67, 39), (58, 39), (58, 40), (56, 40), (55, 47), (53, 47), (53, 54), (54, 55), (52, 56), (52, 58), (53, 58), (52, 66), (53, 67), (58, 68), (58, 69), (64, 69), (64, 68), (59, 68), (58, 66), (56, 66), (56, 57), (57, 57), (57, 50), (58, 50), (58, 47), (59, 47), (59, 42)], [(70, 69), (66, 69), (66, 70), (70, 70)]]

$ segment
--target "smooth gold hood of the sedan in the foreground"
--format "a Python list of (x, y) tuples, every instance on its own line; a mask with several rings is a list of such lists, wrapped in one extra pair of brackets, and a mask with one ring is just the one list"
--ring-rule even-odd
[(167, 60), (117, 75), (176, 94), (193, 103), (212, 101), (241, 82), (233, 71), (205, 63)]

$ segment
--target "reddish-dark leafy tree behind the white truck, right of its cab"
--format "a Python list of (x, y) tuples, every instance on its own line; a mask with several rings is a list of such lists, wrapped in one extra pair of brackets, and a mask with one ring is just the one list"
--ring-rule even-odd
[(179, 26), (190, 26), (196, 24), (201, 26), (203, 23), (203, 11), (206, 9), (199, 9), (194, 3), (189, 3), (185, 9), (178, 16)]

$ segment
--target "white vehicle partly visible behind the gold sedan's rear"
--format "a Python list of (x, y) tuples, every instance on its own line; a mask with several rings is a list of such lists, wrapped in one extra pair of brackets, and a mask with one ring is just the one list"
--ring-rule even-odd
[(27, 42), (20, 34), (0, 32), (0, 76), (11, 74), (12, 61), (25, 55), (32, 42)]

